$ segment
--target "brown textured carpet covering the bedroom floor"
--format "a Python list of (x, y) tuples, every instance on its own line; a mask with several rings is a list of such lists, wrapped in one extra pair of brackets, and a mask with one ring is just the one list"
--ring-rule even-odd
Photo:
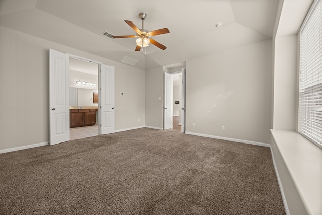
[(0, 154), (0, 214), (285, 214), (270, 149), (141, 128)]

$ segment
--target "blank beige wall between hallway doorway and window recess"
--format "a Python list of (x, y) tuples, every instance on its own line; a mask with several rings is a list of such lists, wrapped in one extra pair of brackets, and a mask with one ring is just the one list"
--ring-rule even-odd
[(269, 144), (271, 61), (272, 40), (187, 60), (186, 131)]

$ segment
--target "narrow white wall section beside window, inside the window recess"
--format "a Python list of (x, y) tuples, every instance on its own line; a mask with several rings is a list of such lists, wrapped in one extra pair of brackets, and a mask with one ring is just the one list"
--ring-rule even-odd
[(296, 130), (297, 35), (276, 38), (273, 129)]

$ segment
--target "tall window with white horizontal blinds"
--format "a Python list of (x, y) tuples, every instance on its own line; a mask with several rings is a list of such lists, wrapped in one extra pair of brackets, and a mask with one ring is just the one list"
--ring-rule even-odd
[(322, 148), (322, 0), (300, 31), (299, 132)]

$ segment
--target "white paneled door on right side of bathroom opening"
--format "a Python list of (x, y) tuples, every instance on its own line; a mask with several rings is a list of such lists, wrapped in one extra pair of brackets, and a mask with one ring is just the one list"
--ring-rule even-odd
[(102, 64), (100, 80), (100, 133), (114, 133), (114, 67)]

